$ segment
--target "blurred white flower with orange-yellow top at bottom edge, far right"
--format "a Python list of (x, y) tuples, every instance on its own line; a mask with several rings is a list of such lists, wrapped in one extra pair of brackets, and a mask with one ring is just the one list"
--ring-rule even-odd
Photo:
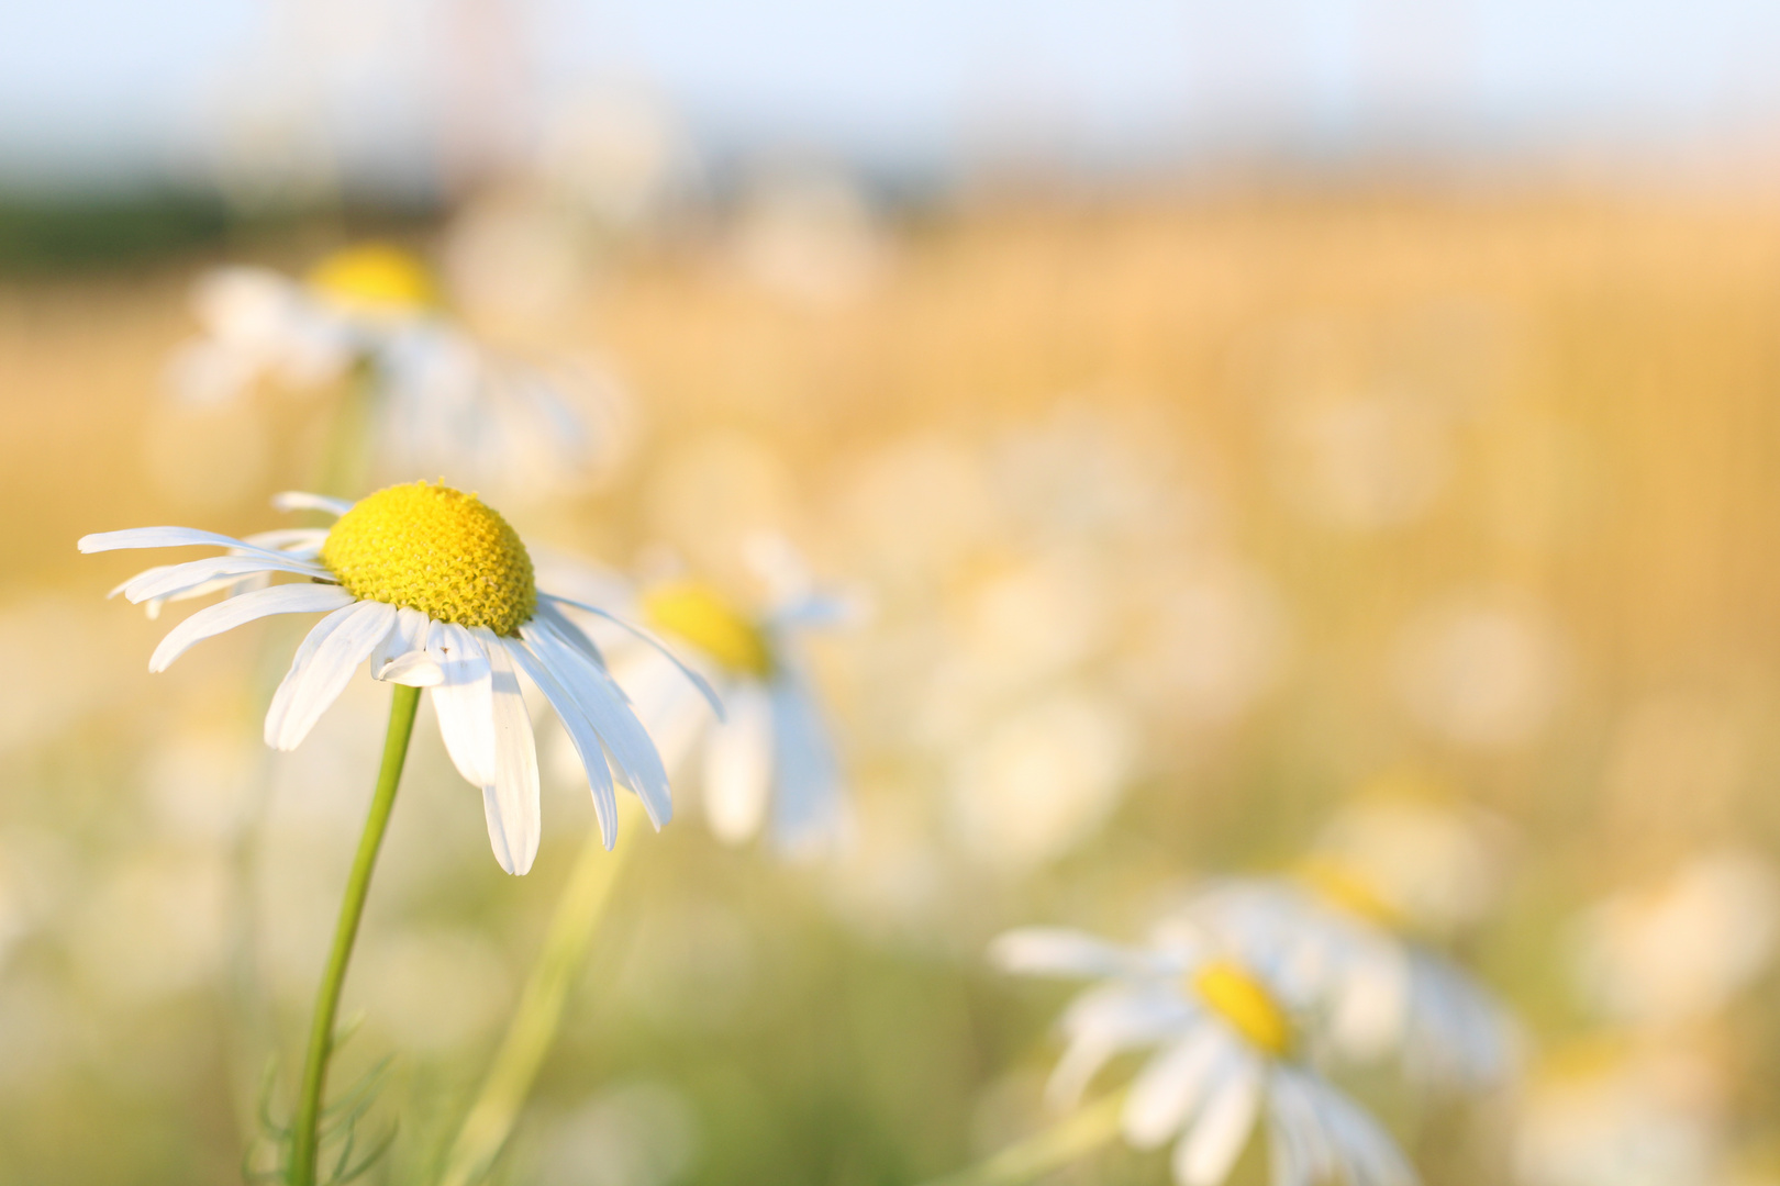
[(1547, 1058), (1520, 1106), (1525, 1186), (1702, 1186), (1725, 1168), (1723, 1085), (1686, 1049), (1579, 1046)]

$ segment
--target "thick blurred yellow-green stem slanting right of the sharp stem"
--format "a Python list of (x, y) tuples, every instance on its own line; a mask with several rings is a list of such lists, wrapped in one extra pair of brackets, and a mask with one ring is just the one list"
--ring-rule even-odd
[[(627, 832), (641, 820), (643, 804), (635, 795), (619, 795), (618, 830)], [(587, 946), (600, 926), (605, 905), (612, 900), (612, 887), (634, 848), (637, 848), (635, 837), (607, 852), (598, 829), (587, 834), (575, 871), (570, 873), (550, 918), (543, 951), (513, 1010), (507, 1035), (500, 1040), (495, 1062), (482, 1079), (482, 1090), (470, 1104), (463, 1127), (457, 1129), (457, 1140), (445, 1156), (440, 1186), (473, 1186), (488, 1175), (495, 1158), (500, 1156), (525, 1099), (532, 1094), (538, 1069), (555, 1042), (575, 974), (587, 957)]]

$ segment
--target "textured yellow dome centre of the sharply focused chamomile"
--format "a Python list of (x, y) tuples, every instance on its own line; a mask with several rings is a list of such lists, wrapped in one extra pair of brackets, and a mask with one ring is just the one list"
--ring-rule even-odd
[(511, 635), (538, 608), (532, 558), (518, 532), (475, 494), (445, 484), (392, 485), (361, 498), (328, 532), (320, 560), (354, 597), (440, 622)]

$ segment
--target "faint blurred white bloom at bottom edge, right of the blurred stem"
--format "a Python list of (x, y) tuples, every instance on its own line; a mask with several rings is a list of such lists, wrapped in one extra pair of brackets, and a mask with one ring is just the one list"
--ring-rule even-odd
[(671, 1186), (696, 1165), (698, 1113), (666, 1083), (635, 1079), (593, 1095), (550, 1126), (539, 1186)]

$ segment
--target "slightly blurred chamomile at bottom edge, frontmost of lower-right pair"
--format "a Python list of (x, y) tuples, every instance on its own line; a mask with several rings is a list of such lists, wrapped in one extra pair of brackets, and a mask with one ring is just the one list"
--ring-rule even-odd
[(1111, 1058), (1153, 1049), (1120, 1122), (1137, 1149), (1175, 1142), (1180, 1186), (1226, 1181), (1262, 1115), (1274, 1186), (1415, 1182), (1378, 1122), (1305, 1062), (1303, 985), (1251, 939), (1177, 921), (1146, 948), (1121, 948), (1025, 928), (991, 957), (1015, 973), (1102, 982), (1063, 1015), (1052, 1099), (1072, 1102)]

